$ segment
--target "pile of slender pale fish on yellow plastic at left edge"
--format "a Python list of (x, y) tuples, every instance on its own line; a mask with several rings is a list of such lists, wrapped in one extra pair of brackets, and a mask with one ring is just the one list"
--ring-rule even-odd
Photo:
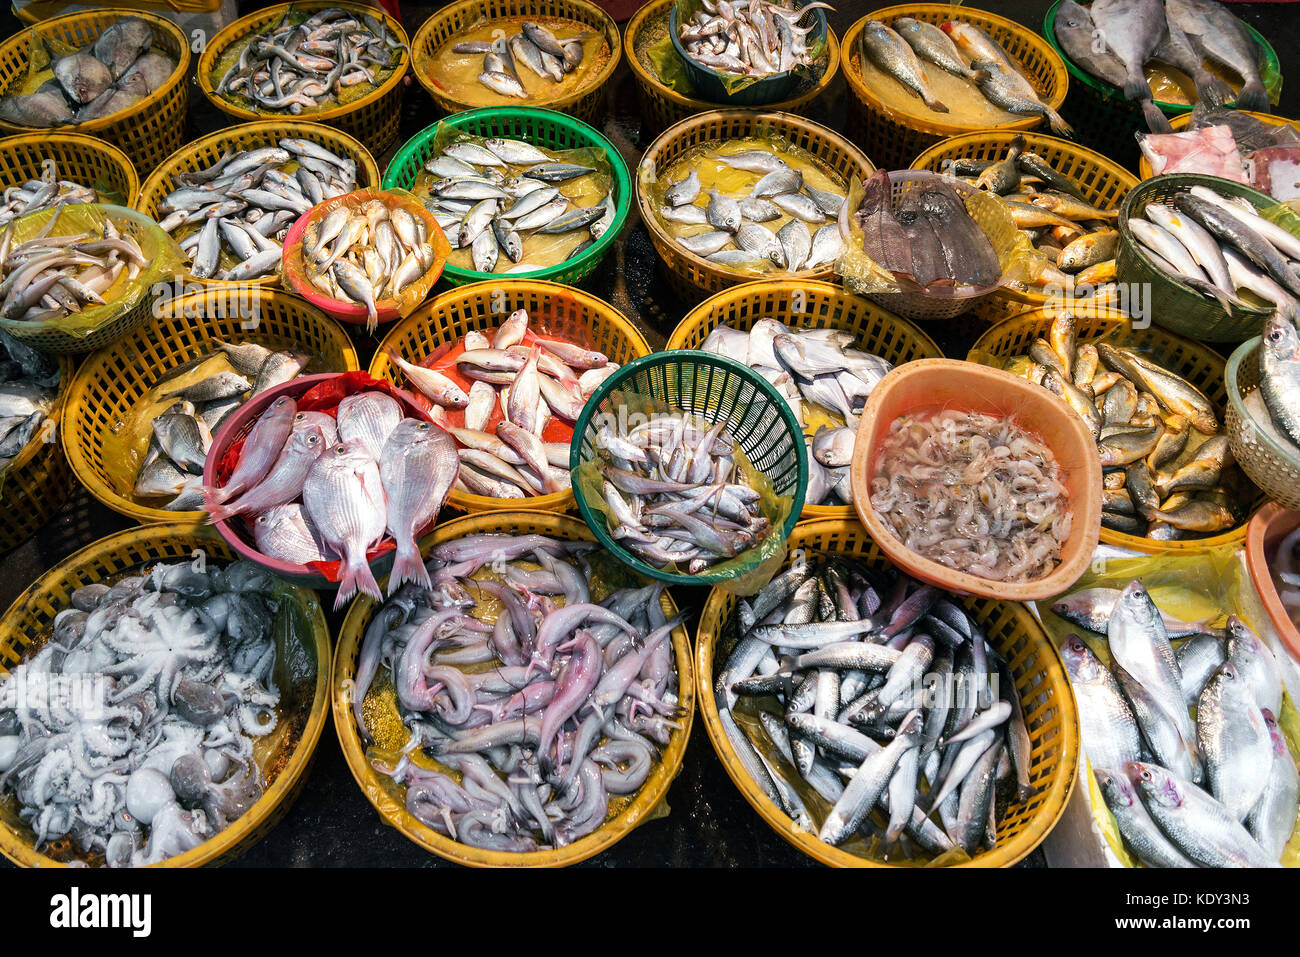
[(101, 295), (122, 273), (134, 280), (147, 265), (135, 239), (105, 216), (96, 233), (53, 235), (64, 207), (31, 239), (13, 244), (13, 226), (0, 237), (0, 316), (44, 322), (104, 306)]

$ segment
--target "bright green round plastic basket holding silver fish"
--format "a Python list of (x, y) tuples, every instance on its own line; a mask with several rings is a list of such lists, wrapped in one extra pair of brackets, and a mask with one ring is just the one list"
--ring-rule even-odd
[[(575, 120), (554, 109), (540, 109), (537, 107), (485, 107), (482, 109), (468, 109), (455, 113), (446, 120), (436, 122), (408, 139), (396, 156), (384, 170), (385, 190), (410, 190), (415, 185), (415, 178), (424, 169), (425, 160), (433, 148), (434, 137), (443, 126), (459, 130), (471, 137), (507, 137), (521, 139), (526, 143), (545, 150), (604, 150), (614, 172), (614, 222), (607, 230), (592, 243), (592, 248), (580, 256), (556, 263), (546, 269), (532, 273), (510, 276), (514, 280), (547, 280), (573, 285), (585, 280), (604, 259), (614, 246), (615, 238), (623, 231), (623, 225), (628, 220), (628, 209), (632, 207), (632, 177), (628, 166), (619, 156), (618, 148), (588, 126), (581, 120)], [(498, 273), (480, 273), (473, 269), (462, 269), (447, 265), (442, 270), (442, 278), (452, 286), (463, 286), (467, 282), (482, 282), (484, 280), (498, 278)]]

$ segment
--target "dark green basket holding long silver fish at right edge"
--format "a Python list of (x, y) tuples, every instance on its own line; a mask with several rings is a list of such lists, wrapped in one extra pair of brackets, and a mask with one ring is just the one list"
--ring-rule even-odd
[(1150, 264), (1140, 251), (1138, 241), (1128, 230), (1128, 220), (1141, 216), (1149, 203), (1187, 192), (1193, 186), (1206, 186), (1223, 196), (1243, 196), (1256, 208), (1277, 205), (1249, 186), (1217, 176), (1200, 173), (1170, 173), (1143, 179), (1134, 186), (1119, 204), (1119, 251), (1115, 256), (1115, 278), (1127, 289), (1143, 289), (1147, 307), (1156, 325), (1200, 342), (1242, 342), (1258, 335), (1264, 320), (1273, 311), (1253, 307), (1232, 307), (1227, 312), (1213, 299), (1178, 280), (1166, 276)]

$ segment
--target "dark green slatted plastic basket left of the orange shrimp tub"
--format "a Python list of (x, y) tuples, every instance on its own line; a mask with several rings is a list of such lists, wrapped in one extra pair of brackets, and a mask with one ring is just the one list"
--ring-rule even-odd
[(595, 390), (577, 424), (569, 449), (569, 471), (573, 473), (573, 497), (577, 499), (582, 520), (595, 533), (602, 546), (620, 562), (641, 575), (647, 575), (671, 585), (724, 585), (753, 572), (758, 563), (701, 575), (676, 575), (642, 562), (610, 536), (603, 512), (588, 503), (577, 481), (578, 467), (594, 458), (598, 423), (602, 419), (620, 420), (621, 406), (611, 397), (615, 393), (645, 397), (656, 410), (664, 412), (690, 412), (711, 423), (727, 420), (731, 433), (750, 463), (772, 484), (777, 495), (790, 495), (790, 512), (780, 529), (772, 529), (763, 545), (774, 538), (776, 562), (780, 567), (785, 554), (785, 540), (800, 519), (803, 493), (807, 489), (809, 462), (803, 432), (790, 407), (767, 380), (724, 356), (681, 348), (655, 352), (621, 367)]

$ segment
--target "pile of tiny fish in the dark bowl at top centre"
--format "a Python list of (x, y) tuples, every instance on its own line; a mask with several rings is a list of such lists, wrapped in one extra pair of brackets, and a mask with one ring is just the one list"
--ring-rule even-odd
[(807, 35), (800, 26), (809, 10), (835, 8), (810, 3), (792, 10), (770, 0), (701, 0), (690, 21), (677, 23), (677, 39), (692, 60), (722, 73), (770, 77), (796, 66), (811, 66)]

